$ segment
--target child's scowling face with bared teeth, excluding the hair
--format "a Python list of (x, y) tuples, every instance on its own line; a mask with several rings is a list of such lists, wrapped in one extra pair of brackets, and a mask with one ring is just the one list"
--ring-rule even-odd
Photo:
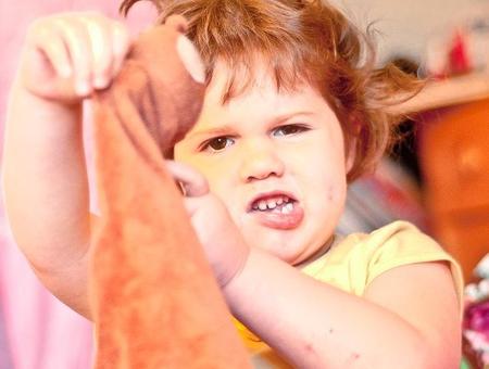
[(201, 116), (175, 158), (208, 178), (250, 246), (297, 265), (329, 240), (343, 209), (340, 125), (313, 88), (278, 94), (265, 73), (223, 105), (227, 71), (215, 68)]

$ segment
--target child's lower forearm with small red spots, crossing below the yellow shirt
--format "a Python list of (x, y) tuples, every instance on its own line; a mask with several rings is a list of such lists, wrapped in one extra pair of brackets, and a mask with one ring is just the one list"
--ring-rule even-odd
[(225, 295), (236, 317), (297, 367), (425, 367), (423, 336), (405, 320), (260, 251)]

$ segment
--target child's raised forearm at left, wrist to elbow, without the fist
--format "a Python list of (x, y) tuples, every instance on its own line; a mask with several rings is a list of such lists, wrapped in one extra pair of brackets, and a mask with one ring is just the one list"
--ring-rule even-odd
[[(18, 82), (12, 89), (2, 168), (5, 208), (15, 241), (47, 284), (63, 284), (63, 273), (86, 263), (89, 211), (80, 115), (80, 106), (39, 99)], [(48, 288), (57, 293), (60, 285)]]

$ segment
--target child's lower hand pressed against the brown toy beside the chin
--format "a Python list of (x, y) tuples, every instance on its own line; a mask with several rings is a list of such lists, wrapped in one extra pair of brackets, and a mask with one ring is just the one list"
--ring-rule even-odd
[(185, 206), (221, 288), (243, 268), (249, 254), (239, 229), (226, 207), (209, 191), (205, 178), (181, 163), (166, 161), (174, 178), (183, 186)]

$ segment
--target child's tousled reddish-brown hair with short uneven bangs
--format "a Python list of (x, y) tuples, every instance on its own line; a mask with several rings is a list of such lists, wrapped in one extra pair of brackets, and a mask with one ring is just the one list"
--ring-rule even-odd
[[(121, 12), (126, 15), (138, 1), (124, 0)], [(416, 79), (393, 65), (376, 69), (369, 38), (325, 1), (151, 1), (159, 22), (172, 14), (189, 21), (187, 36), (206, 65), (208, 84), (216, 61), (235, 71), (223, 103), (253, 84), (258, 58), (268, 63), (277, 90), (293, 90), (304, 81), (315, 87), (338, 116), (347, 154), (353, 153), (349, 181), (371, 171), (390, 145), (400, 117), (387, 107), (402, 100), (393, 97), (419, 89)], [(242, 72), (247, 78), (237, 78)]]

